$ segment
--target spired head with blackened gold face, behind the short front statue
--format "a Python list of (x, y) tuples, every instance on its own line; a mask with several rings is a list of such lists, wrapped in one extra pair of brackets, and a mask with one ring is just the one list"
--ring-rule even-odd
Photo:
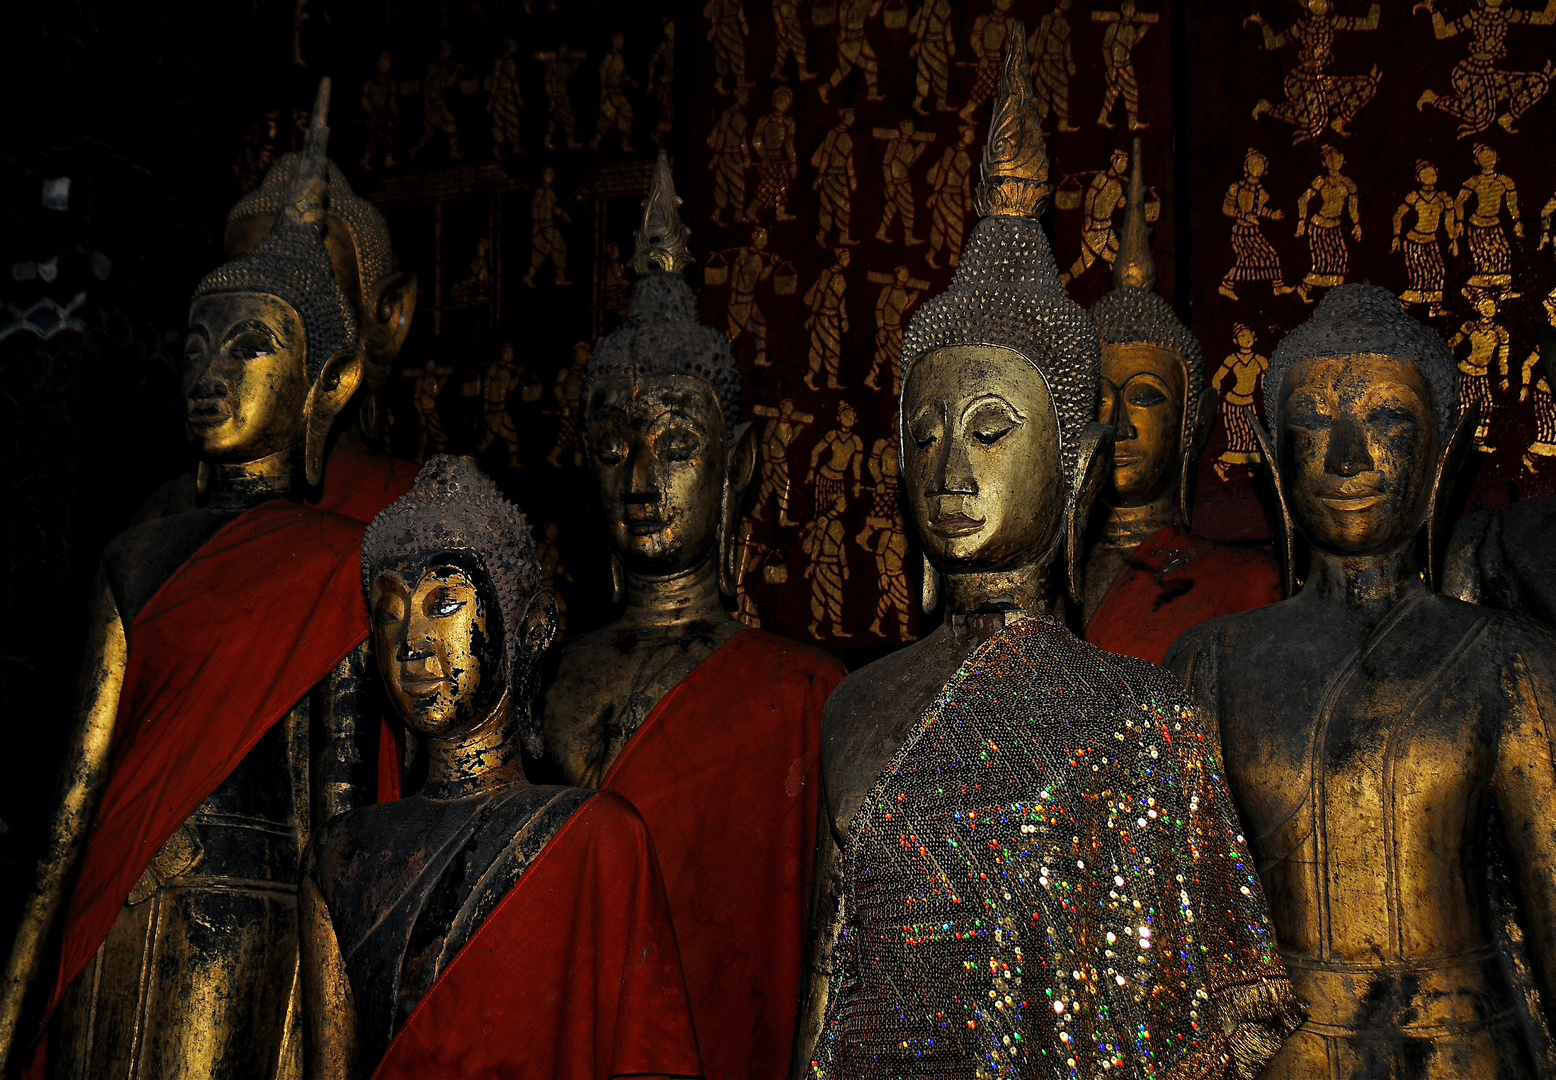
[(584, 370), (584, 437), (613, 570), (668, 577), (717, 552), (720, 588), (733, 596), (736, 524), (756, 447), (750, 425), (739, 423), (730, 342), (697, 321), (682, 277), (691, 254), (678, 207), (661, 151), (636, 232), (630, 316), (599, 339)]

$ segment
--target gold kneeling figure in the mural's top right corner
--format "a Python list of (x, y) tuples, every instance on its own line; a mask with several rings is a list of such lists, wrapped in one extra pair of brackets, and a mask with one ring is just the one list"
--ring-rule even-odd
[(1508, 56), (1508, 26), (1556, 25), (1556, 0), (1545, 0), (1544, 11), (1506, 8), (1503, 0), (1470, 0), (1470, 9), (1458, 19), (1444, 19), (1433, 0), (1421, 0), (1411, 11), (1432, 16), (1432, 33), (1438, 40), (1466, 31), (1472, 36), (1469, 56), (1449, 75), (1453, 93), (1422, 90), (1416, 109), (1432, 106), (1458, 120), (1460, 139), (1478, 135), (1494, 123), (1509, 135), (1517, 134), (1512, 121), (1550, 92), (1556, 64), (1545, 61), (1539, 72), (1503, 72), (1497, 62)]

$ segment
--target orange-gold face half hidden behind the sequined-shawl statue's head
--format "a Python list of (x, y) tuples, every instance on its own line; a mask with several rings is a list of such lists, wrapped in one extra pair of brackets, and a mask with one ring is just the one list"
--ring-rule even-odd
[(1111, 417), (1114, 506), (1144, 506), (1170, 490), (1183, 453), (1183, 359), (1159, 345), (1103, 345), (1102, 373), (1119, 389)]

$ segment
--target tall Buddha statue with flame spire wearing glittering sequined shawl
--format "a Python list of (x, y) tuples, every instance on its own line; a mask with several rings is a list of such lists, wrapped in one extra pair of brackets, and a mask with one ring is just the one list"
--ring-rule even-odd
[(1155, 664), (1071, 633), (1102, 349), (1038, 223), (1018, 23), (977, 229), (902, 341), (902, 492), (944, 621), (823, 722), (792, 1075), (1253, 1077), (1295, 1026), (1220, 767)]

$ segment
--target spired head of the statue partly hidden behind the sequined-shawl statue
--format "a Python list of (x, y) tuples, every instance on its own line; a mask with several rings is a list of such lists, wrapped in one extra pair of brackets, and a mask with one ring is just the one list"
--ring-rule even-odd
[(1113, 481), (1103, 498), (1119, 507), (1172, 500), (1187, 524), (1200, 450), (1215, 423), (1215, 392), (1204, 389), (1200, 342), (1155, 285), (1136, 139), (1113, 291), (1091, 310), (1102, 335), (1100, 416), (1116, 431)]

